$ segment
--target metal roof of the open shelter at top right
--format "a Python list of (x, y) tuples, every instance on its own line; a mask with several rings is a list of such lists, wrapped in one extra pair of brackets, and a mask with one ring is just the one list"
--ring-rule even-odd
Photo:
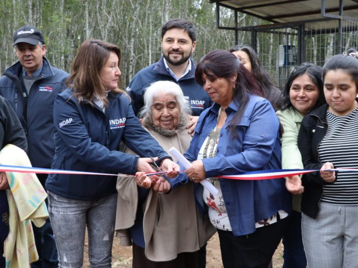
[[(340, 0), (210, 0), (272, 23), (302, 22), (339, 16)], [(358, 18), (358, 0), (342, 0), (343, 16)]]

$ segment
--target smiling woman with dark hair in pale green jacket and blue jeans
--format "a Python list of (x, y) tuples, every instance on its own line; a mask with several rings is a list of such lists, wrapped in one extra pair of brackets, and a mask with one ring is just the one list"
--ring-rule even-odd
[[(303, 117), (325, 103), (322, 68), (304, 63), (288, 76), (282, 89), (281, 110), (276, 112), (282, 125), (282, 168), (303, 169), (297, 138)], [(292, 214), (282, 237), (283, 268), (306, 268), (307, 261), (302, 244), (301, 194), (304, 188), (298, 175), (286, 177), (286, 188), (293, 194)]]

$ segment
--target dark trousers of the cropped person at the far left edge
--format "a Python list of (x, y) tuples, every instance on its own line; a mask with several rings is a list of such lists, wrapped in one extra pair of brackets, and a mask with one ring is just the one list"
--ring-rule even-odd
[(5, 267), (5, 258), (2, 257), (2, 254), (3, 254), (3, 243), (9, 231), (8, 216), (9, 216), (9, 209), (6, 199), (6, 192), (5, 190), (0, 190), (0, 268)]

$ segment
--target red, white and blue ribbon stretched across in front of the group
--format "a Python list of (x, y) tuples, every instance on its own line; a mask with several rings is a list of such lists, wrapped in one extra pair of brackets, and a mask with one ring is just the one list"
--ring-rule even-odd
[[(328, 171), (351, 171), (358, 172), (358, 169), (352, 168), (339, 168), (339, 169), (327, 169)], [(259, 171), (250, 171), (238, 175), (225, 175), (217, 176), (217, 178), (222, 179), (232, 179), (232, 180), (270, 180), (283, 178), (287, 176), (301, 175), (312, 172), (317, 172), (319, 169), (270, 169), (270, 170), (259, 170)], [(86, 172), (86, 171), (73, 171), (73, 170), (59, 170), (59, 169), (49, 169), (49, 168), (35, 168), (35, 167), (22, 167), (22, 166), (8, 166), (0, 165), (0, 172), (19, 172), (19, 173), (41, 173), (41, 174), (75, 174), (75, 175), (101, 175), (101, 176), (118, 176), (126, 174), (108, 174), (108, 173), (96, 173), (96, 172)], [(147, 176), (151, 175), (161, 175), (166, 172), (153, 172), (146, 173)]]

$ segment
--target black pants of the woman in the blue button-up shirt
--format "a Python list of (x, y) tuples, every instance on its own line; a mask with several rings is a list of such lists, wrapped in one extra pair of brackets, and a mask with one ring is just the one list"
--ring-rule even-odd
[(268, 268), (287, 224), (287, 218), (279, 219), (242, 236), (218, 230), (224, 268)]

